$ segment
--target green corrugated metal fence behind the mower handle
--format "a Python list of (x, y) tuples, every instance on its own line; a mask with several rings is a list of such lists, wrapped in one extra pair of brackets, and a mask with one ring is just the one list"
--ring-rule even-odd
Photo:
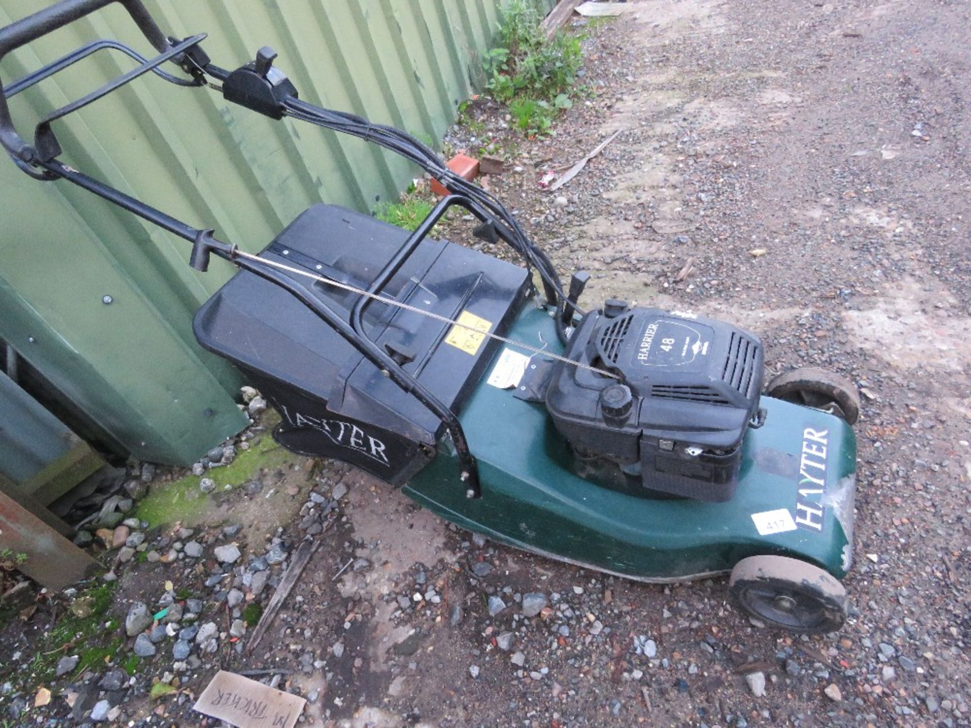
[[(543, 0), (547, 6), (552, 0)], [(215, 62), (235, 67), (273, 46), (301, 97), (440, 139), (479, 79), (496, 0), (150, 0), (163, 30), (209, 32)], [(0, 23), (36, 0), (0, 0)], [(11, 80), (96, 37), (146, 54), (120, 7), (18, 50)], [(12, 102), (40, 114), (130, 67), (99, 53)], [(319, 201), (370, 210), (416, 174), (361, 141), (230, 108), (211, 89), (151, 76), (57, 122), (65, 160), (192, 224), (257, 250)], [(22, 132), (21, 132), (22, 133)], [(69, 185), (34, 182), (0, 160), (0, 337), (85, 414), (142, 459), (188, 463), (236, 432), (231, 368), (196, 346), (191, 316), (231, 274), (197, 275), (187, 247)], [(103, 301), (109, 300), (111, 303)]]

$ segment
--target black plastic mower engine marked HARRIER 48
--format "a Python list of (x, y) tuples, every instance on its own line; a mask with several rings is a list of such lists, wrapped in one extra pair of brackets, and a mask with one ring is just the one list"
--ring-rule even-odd
[(704, 316), (608, 302), (586, 315), (567, 356), (618, 378), (554, 367), (547, 409), (580, 458), (616, 464), (644, 494), (732, 497), (758, 414), (757, 337)]

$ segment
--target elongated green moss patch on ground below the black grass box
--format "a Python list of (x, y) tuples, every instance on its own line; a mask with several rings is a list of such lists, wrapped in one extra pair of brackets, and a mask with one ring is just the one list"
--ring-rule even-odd
[(214, 468), (205, 476), (188, 475), (179, 480), (160, 483), (151, 487), (135, 510), (135, 517), (149, 522), (153, 528), (166, 523), (181, 521), (184, 526), (194, 526), (202, 522), (211, 502), (208, 494), (199, 489), (203, 478), (216, 482), (214, 492), (225, 492), (252, 480), (261, 468), (279, 468), (297, 458), (277, 445), (269, 434), (250, 441), (250, 448), (238, 450), (236, 459), (229, 465)]

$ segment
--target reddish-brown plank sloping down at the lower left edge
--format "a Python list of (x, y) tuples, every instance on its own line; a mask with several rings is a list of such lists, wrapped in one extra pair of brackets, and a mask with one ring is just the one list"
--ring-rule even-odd
[(6, 493), (0, 493), (0, 547), (27, 554), (17, 568), (54, 591), (86, 579), (99, 568), (81, 548)]

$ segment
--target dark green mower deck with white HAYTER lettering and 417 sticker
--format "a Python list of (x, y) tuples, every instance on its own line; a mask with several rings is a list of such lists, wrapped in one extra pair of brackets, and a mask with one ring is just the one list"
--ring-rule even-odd
[[(562, 350), (550, 315), (532, 306), (509, 336)], [(453, 523), (502, 544), (645, 581), (726, 573), (755, 555), (808, 561), (838, 579), (850, 569), (856, 442), (842, 419), (763, 396), (765, 424), (745, 437), (731, 501), (656, 499), (581, 479), (546, 409), (486, 380), (460, 414), (482, 497), (466, 497), (447, 444), (404, 487)]]

